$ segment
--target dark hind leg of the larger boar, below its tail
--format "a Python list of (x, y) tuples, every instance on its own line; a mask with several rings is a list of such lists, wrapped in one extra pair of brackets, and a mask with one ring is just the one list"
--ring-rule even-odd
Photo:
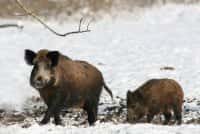
[(93, 125), (97, 120), (97, 109), (98, 109), (98, 101), (90, 100), (87, 101), (84, 110), (88, 114), (88, 122), (90, 125)]

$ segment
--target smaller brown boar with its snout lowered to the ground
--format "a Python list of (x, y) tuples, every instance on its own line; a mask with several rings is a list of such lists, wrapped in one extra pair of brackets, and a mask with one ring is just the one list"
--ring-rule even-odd
[(147, 122), (151, 122), (154, 115), (164, 114), (168, 124), (172, 111), (178, 124), (181, 124), (183, 103), (183, 90), (172, 79), (152, 79), (144, 83), (134, 92), (127, 92), (127, 120), (134, 123), (147, 116)]

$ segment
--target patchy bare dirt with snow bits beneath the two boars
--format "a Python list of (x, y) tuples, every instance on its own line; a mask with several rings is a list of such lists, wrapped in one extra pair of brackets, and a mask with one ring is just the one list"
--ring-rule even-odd
[[(193, 103), (193, 104), (192, 104)], [(195, 104), (196, 108), (189, 107)], [(28, 105), (28, 107), (27, 107)], [(196, 98), (186, 99), (183, 110), (183, 124), (200, 124), (200, 112), (198, 106), (200, 100)], [(0, 125), (20, 124), (22, 128), (28, 128), (35, 123), (39, 123), (45, 112), (46, 106), (38, 97), (27, 100), (24, 112), (0, 110)], [(81, 109), (63, 109), (61, 113), (63, 124), (71, 126), (88, 126), (87, 114)], [(154, 118), (154, 124), (162, 124), (164, 117), (158, 115)], [(52, 121), (51, 121), (52, 122)], [(127, 123), (126, 121), (126, 100), (120, 97), (115, 98), (112, 103), (100, 103), (98, 122), (112, 122), (114, 124)], [(146, 117), (139, 121), (146, 122)], [(170, 122), (173, 124), (174, 120)]]

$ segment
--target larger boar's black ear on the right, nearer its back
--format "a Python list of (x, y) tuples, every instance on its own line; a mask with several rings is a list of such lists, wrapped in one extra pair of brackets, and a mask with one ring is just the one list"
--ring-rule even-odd
[(47, 57), (51, 60), (51, 66), (55, 67), (58, 64), (59, 60), (59, 52), (58, 51), (51, 51), (47, 54)]

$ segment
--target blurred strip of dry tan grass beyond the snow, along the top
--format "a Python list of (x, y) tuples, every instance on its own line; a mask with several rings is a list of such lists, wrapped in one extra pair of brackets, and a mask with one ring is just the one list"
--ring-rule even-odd
[[(57, 17), (61, 13), (66, 16), (80, 14), (94, 16), (98, 12), (110, 13), (112, 9), (132, 10), (135, 7), (149, 7), (166, 3), (196, 3), (200, 0), (21, 0), (24, 5), (39, 16)], [(0, 0), (0, 17), (16, 17), (23, 15), (15, 0)]]

